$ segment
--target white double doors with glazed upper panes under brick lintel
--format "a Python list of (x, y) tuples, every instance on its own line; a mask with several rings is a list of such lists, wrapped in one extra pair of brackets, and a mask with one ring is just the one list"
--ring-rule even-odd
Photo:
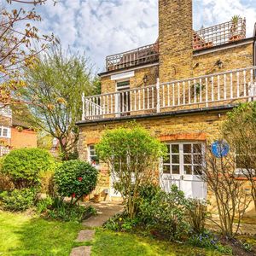
[(200, 177), (204, 147), (203, 143), (168, 143), (168, 156), (160, 172), (162, 189), (170, 192), (172, 184), (176, 184), (186, 197), (205, 199), (207, 187)]

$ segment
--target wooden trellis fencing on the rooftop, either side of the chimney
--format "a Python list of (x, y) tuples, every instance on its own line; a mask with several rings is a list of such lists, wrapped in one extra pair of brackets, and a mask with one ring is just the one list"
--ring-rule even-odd
[[(193, 49), (207, 49), (246, 38), (246, 20), (239, 18), (193, 33)], [(125, 67), (153, 63), (159, 60), (159, 44), (149, 44), (106, 57), (107, 72)]]

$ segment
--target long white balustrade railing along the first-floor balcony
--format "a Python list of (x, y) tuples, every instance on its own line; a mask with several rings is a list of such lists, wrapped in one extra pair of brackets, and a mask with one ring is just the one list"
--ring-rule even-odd
[[(236, 105), (256, 100), (256, 67), (83, 96), (83, 120)], [(255, 97), (255, 98), (254, 98)]]

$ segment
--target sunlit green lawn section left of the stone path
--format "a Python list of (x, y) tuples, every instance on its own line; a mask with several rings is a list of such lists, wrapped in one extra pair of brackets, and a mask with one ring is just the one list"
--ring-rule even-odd
[(0, 255), (69, 255), (80, 224), (0, 212)]

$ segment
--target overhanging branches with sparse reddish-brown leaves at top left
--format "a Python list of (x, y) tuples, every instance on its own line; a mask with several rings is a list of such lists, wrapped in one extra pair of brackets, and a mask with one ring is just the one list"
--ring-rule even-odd
[[(46, 1), (7, 0), (7, 3), (13, 2), (36, 5)], [(20, 102), (17, 95), (13, 97), (13, 93), (25, 85), (20, 79), (21, 68), (31, 66), (40, 52), (49, 44), (58, 42), (53, 35), (40, 34), (38, 28), (32, 26), (32, 22), (41, 20), (34, 9), (0, 10), (0, 108)]]

